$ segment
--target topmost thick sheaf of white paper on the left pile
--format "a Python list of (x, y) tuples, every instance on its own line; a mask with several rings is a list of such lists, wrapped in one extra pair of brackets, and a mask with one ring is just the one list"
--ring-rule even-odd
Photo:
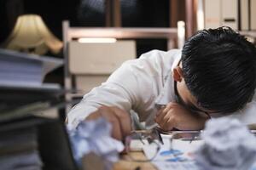
[(40, 85), (62, 59), (0, 49), (0, 84)]

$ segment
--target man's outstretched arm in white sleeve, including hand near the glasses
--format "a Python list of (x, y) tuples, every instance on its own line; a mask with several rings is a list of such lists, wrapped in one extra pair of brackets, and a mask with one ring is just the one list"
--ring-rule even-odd
[(67, 123), (76, 127), (84, 119), (104, 117), (113, 126), (113, 137), (123, 139), (131, 132), (129, 111), (138, 103), (137, 84), (141, 83), (131, 70), (129, 62), (115, 71), (107, 82), (85, 94), (79, 105), (67, 115)]

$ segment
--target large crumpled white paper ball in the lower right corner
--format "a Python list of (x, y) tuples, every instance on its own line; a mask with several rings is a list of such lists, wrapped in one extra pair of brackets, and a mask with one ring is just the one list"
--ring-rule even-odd
[(236, 119), (211, 119), (201, 133), (205, 143), (195, 152), (200, 169), (246, 170), (256, 161), (256, 138)]

